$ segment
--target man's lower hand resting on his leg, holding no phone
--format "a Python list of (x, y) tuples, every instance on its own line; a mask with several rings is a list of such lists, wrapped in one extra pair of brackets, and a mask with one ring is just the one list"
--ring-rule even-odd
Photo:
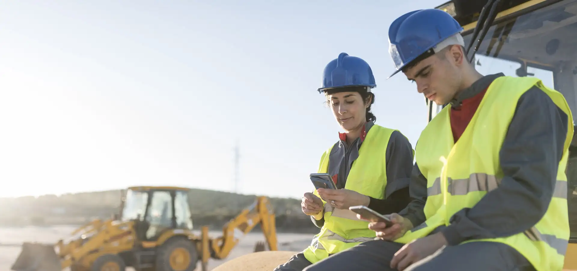
[(441, 232), (417, 239), (404, 245), (395, 253), (395, 257), (391, 260), (391, 268), (403, 271), (446, 245), (447, 239)]

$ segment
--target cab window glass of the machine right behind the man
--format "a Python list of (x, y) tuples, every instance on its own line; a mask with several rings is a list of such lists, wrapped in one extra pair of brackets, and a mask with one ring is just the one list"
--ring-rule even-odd
[[(463, 37), (469, 44), (471, 35)], [(571, 111), (577, 112), (577, 0), (560, 1), (493, 25), (475, 55), (475, 66), (484, 75), (537, 77), (563, 93)], [(572, 158), (567, 169), (568, 206), (571, 239), (577, 239), (577, 161), (573, 160), (577, 159)]]

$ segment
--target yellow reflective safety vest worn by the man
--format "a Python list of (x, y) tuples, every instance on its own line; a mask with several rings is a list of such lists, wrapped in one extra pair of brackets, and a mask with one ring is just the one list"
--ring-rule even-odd
[(560, 271), (563, 268), (569, 239), (565, 166), (573, 137), (573, 117), (561, 93), (531, 77), (499, 77), (494, 80), (456, 143), (451, 132), (450, 105), (425, 127), (415, 152), (419, 169), (427, 178), (426, 221), (396, 242), (407, 243), (428, 235), (438, 226), (448, 226), (452, 215), (462, 208), (473, 207), (488, 191), (499, 186), (503, 177), (499, 151), (519, 98), (533, 86), (544, 91), (568, 116), (569, 129), (553, 199), (544, 217), (526, 232), (464, 243), (505, 243), (519, 251), (538, 271)]

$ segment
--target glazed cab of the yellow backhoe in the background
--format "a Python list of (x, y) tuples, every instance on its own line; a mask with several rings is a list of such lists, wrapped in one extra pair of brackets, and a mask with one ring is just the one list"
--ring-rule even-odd
[(125, 190), (119, 220), (133, 221), (141, 241), (156, 241), (168, 230), (192, 230), (189, 189), (137, 186)]

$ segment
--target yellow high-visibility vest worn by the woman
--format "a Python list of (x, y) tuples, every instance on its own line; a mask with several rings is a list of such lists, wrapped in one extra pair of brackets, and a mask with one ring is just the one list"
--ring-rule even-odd
[[(369, 129), (359, 149), (359, 157), (353, 162), (345, 189), (353, 190), (375, 199), (383, 199), (387, 186), (385, 155), (393, 129), (373, 125)], [(332, 147), (321, 157), (318, 173), (327, 173), (328, 158)], [(314, 194), (319, 194), (314, 191)], [(329, 254), (349, 249), (361, 242), (374, 240), (375, 232), (369, 230), (368, 222), (357, 219), (349, 209), (337, 209), (331, 204), (324, 205), (324, 225), (314, 236), (310, 246), (303, 253), (313, 264), (327, 258)]]

